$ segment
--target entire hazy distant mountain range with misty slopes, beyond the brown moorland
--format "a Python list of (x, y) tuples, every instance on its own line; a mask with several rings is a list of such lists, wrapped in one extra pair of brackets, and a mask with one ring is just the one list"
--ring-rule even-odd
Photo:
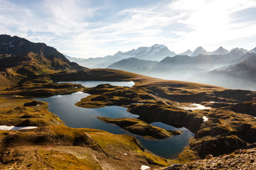
[(250, 51), (238, 47), (228, 51), (220, 46), (213, 52), (197, 47), (193, 52), (187, 50), (175, 55), (164, 45), (153, 45), (106, 57), (68, 59), (92, 68), (107, 67), (162, 79), (256, 90), (255, 53), (256, 47)]

